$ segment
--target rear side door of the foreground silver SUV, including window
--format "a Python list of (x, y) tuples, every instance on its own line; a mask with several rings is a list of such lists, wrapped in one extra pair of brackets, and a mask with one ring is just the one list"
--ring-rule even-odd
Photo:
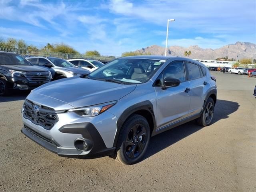
[(207, 90), (209, 90), (210, 84), (206, 77), (205, 69), (198, 64), (192, 62), (185, 62), (186, 71), (188, 74), (188, 80), (190, 82), (189, 97), (190, 107), (188, 116), (193, 116), (201, 112), (204, 104), (204, 96)]

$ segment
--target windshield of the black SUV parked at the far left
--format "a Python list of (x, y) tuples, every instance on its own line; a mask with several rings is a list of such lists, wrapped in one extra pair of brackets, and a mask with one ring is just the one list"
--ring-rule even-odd
[(32, 65), (24, 57), (12, 54), (12, 53), (1, 53), (0, 54), (1, 65)]

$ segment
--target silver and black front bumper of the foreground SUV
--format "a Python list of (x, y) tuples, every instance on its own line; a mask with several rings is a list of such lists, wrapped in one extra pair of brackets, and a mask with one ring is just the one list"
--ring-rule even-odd
[[(23, 109), (22, 109), (23, 114)], [(59, 121), (50, 129), (24, 118), (22, 133), (59, 156), (97, 158), (113, 154), (117, 117), (106, 111), (95, 117), (81, 117), (74, 112), (58, 113)], [(88, 150), (78, 150), (75, 141), (88, 141)]]

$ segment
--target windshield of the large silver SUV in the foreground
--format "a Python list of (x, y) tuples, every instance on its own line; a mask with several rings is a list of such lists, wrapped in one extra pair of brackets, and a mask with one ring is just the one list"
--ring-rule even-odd
[(138, 84), (147, 82), (165, 60), (120, 58), (105, 64), (88, 75), (88, 78)]

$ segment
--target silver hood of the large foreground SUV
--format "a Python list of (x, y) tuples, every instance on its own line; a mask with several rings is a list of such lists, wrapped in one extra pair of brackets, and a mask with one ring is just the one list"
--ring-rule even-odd
[[(124, 85), (72, 77), (44, 84), (36, 88), (28, 98), (33, 100), (35, 97), (33, 94), (43, 95), (78, 108), (119, 100), (135, 88), (135, 84)], [(36, 98), (36, 102), (44, 104), (40, 102), (40, 97), (36, 96)], [(49, 105), (46, 104), (46, 106)]]

